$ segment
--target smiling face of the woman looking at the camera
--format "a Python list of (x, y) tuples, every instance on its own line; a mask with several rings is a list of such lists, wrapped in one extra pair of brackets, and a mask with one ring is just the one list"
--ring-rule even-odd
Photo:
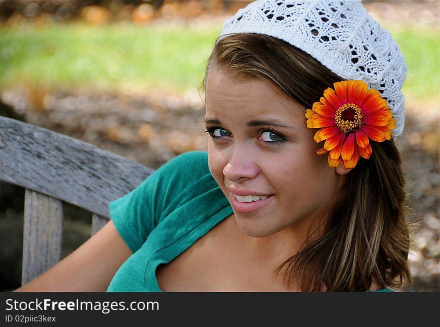
[(304, 113), (267, 81), (208, 73), (209, 169), (248, 236), (306, 231), (337, 195), (342, 176), (316, 154)]

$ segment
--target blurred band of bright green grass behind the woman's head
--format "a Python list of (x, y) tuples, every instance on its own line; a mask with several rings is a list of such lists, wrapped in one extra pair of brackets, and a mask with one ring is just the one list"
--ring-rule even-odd
[[(403, 25), (388, 29), (408, 65), (403, 93), (438, 99), (438, 29)], [(194, 89), (219, 30), (220, 25), (0, 26), (0, 87), (29, 82), (58, 89), (141, 87), (176, 93)]]

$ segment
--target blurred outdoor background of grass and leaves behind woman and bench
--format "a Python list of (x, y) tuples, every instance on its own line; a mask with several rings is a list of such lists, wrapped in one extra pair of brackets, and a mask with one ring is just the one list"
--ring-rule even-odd
[[(0, 0), (0, 115), (157, 169), (206, 150), (198, 93), (223, 20), (247, 0)], [(413, 283), (440, 291), (440, 2), (363, 0), (403, 52), (405, 128), (397, 138), (408, 220), (421, 228)], [(1, 165), (1, 162), (0, 162)], [(0, 182), (0, 291), (20, 285), (24, 190)], [(91, 213), (64, 203), (62, 257)]]

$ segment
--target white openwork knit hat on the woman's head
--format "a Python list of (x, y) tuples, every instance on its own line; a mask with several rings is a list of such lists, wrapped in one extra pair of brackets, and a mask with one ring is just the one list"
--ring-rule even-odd
[(360, 1), (256, 0), (224, 22), (219, 39), (230, 33), (276, 37), (340, 77), (364, 81), (386, 99), (396, 120), (393, 137), (401, 134), (405, 60), (390, 33), (368, 15)]

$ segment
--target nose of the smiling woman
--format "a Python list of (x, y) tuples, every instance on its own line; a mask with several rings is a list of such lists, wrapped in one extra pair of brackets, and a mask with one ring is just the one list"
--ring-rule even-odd
[(242, 182), (258, 175), (258, 166), (249, 152), (234, 150), (223, 168), (223, 175), (231, 182)]

